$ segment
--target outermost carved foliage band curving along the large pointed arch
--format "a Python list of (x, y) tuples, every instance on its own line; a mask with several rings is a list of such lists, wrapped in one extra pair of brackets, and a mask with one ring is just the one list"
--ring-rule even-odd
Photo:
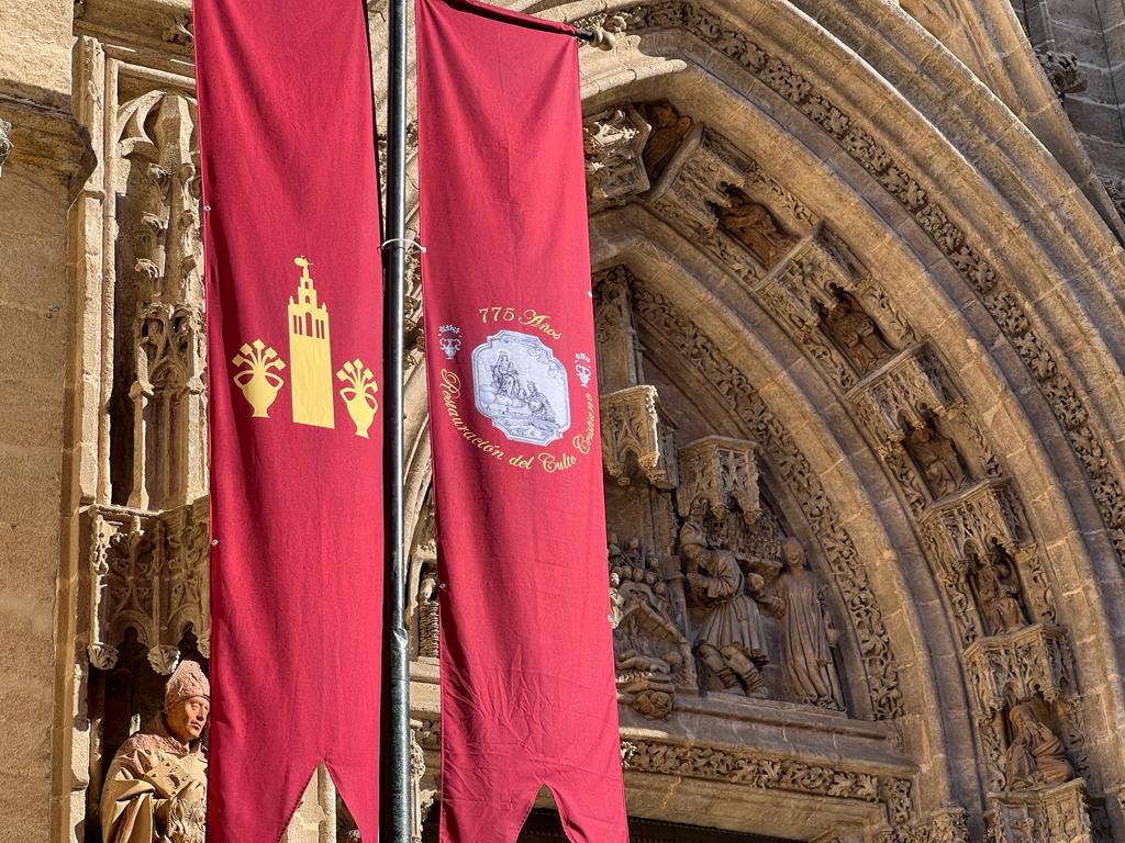
[(670, 28), (687, 31), (738, 62), (775, 93), (816, 123), (894, 197), (945, 253), (950, 263), (976, 290), (986, 309), (1011, 342), (1040, 384), (1082, 464), (1095, 500), (1125, 565), (1125, 489), (1110, 465), (1106, 437), (1096, 432), (1070, 377), (1042, 339), (1019, 303), (1023, 298), (972, 245), (942, 207), (875, 136), (817, 91), (785, 61), (770, 54), (739, 30), (737, 24), (704, 6), (666, 0), (616, 12), (630, 31)]

